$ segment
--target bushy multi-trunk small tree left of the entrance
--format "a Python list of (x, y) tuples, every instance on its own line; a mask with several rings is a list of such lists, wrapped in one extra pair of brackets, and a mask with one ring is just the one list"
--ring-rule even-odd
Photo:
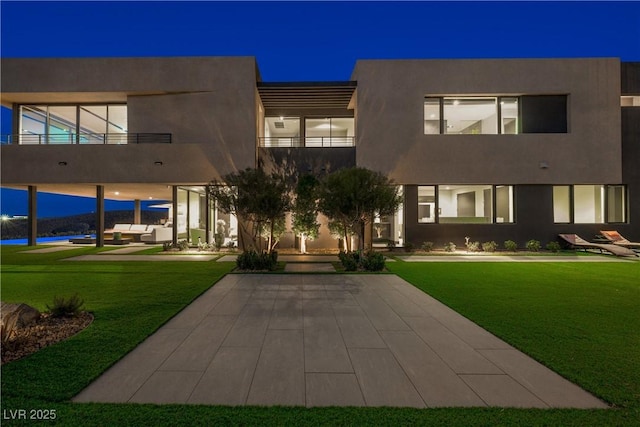
[(291, 196), (288, 180), (262, 169), (247, 168), (227, 174), (222, 182), (213, 180), (207, 187), (218, 208), (238, 217), (240, 243), (247, 248), (244, 235), (251, 236), (253, 247), (263, 250), (263, 230), (268, 230), (267, 252), (271, 252), (276, 222), (289, 210)]

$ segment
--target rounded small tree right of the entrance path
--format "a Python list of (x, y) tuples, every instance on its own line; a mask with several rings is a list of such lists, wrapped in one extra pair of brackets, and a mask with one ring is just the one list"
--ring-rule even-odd
[(393, 181), (379, 172), (365, 168), (341, 169), (328, 175), (319, 188), (319, 210), (344, 230), (350, 251), (349, 230), (358, 236), (364, 249), (364, 234), (376, 214), (393, 215), (402, 203)]

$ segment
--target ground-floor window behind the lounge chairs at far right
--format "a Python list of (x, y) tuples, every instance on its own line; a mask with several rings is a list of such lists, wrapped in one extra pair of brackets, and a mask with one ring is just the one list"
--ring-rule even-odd
[(626, 221), (623, 185), (557, 185), (553, 187), (555, 223), (604, 224)]

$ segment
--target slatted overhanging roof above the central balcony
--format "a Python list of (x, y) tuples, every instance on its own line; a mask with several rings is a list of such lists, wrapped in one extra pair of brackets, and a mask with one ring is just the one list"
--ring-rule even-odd
[(355, 81), (346, 82), (259, 82), (258, 93), (267, 110), (347, 109)]

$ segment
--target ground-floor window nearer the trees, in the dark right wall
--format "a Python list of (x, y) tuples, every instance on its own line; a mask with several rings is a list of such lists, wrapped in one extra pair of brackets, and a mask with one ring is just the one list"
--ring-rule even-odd
[(418, 222), (440, 224), (512, 223), (513, 186), (418, 186)]

